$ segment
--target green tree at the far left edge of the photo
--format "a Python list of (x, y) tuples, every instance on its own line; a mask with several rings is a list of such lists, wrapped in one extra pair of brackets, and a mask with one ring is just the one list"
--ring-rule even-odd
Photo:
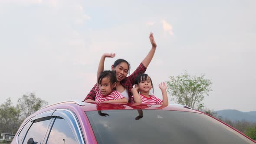
[(0, 105), (0, 131), (16, 133), (20, 121), (20, 108), (13, 106), (10, 98), (7, 98), (4, 104)]

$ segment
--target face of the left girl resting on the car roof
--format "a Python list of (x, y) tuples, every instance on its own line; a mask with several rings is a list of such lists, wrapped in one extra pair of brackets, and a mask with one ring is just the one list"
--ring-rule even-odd
[(112, 92), (112, 89), (115, 88), (116, 83), (111, 84), (109, 77), (102, 78), (101, 83), (99, 84), (99, 90), (102, 92), (102, 95), (108, 95)]

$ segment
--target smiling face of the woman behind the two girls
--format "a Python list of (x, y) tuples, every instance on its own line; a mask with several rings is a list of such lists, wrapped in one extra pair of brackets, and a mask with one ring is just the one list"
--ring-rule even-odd
[(125, 79), (128, 74), (129, 66), (125, 62), (121, 62), (115, 67), (112, 65), (112, 70), (116, 72), (116, 79), (118, 82)]

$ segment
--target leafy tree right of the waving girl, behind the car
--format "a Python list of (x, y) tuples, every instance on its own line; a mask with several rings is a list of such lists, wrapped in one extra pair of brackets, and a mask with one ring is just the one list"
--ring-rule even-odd
[(200, 107), (200, 102), (211, 91), (212, 82), (209, 79), (204, 78), (205, 75), (191, 76), (187, 72), (183, 75), (169, 77), (168, 93), (172, 100), (177, 101), (178, 104), (187, 105), (190, 108)]

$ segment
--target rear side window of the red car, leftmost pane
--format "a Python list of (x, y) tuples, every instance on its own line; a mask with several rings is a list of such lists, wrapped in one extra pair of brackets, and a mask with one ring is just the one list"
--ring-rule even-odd
[(30, 129), (28, 130), (25, 140), (23, 141), (23, 144), (27, 144), (27, 141), (30, 138), (33, 138), (35, 142), (40, 143), (40, 141), (46, 134), (51, 118), (52, 117), (46, 117), (35, 120), (31, 125)]

